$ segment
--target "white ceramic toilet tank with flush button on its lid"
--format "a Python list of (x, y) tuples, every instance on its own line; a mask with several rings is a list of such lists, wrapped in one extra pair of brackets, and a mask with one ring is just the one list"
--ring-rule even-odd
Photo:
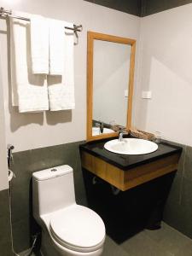
[(35, 218), (74, 203), (76, 202), (71, 166), (56, 166), (32, 173), (32, 208)]

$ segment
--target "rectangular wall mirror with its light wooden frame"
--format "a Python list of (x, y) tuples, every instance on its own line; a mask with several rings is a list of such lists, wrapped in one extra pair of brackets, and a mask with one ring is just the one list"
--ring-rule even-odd
[(87, 140), (129, 131), (136, 40), (88, 32)]

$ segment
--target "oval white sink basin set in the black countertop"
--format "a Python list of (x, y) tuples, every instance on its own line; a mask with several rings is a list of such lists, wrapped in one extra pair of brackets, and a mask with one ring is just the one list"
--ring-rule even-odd
[(157, 150), (156, 143), (137, 138), (123, 138), (121, 142), (118, 139), (104, 144), (104, 148), (117, 154), (148, 154)]

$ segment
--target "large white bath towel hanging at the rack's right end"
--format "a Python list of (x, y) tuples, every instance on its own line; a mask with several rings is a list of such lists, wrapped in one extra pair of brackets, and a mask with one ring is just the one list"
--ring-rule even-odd
[[(73, 24), (65, 22), (64, 26), (73, 27)], [(73, 44), (73, 31), (65, 30), (62, 75), (48, 76), (49, 109), (51, 111), (75, 108)]]

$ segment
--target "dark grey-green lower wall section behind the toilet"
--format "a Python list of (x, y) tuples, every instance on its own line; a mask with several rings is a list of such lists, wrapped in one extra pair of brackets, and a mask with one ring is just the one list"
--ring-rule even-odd
[[(73, 167), (76, 201), (86, 205), (84, 181), (81, 172), (79, 144), (67, 143), (48, 148), (37, 148), (14, 154), (12, 170), (12, 223), (15, 251), (20, 253), (30, 247), (32, 230), (32, 172), (42, 169), (69, 165)], [(20, 225), (23, 226), (20, 229)]]

